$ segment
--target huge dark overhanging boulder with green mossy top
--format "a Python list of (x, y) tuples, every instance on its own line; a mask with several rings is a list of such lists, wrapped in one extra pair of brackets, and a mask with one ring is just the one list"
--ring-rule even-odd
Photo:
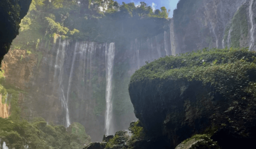
[(146, 135), (167, 136), (171, 148), (229, 126), (233, 138), (255, 138), (255, 56), (246, 48), (203, 49), (141, 67), (129, 93)]

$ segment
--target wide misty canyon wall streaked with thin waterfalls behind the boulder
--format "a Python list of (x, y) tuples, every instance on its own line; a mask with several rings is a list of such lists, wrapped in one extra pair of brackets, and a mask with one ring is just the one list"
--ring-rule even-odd
[[(41, 40), (33, 50), (19, 50), (15, 44), (23, 40), (21, 32), (3, 60), (5, 84), (22, 90), (17, 100), (23, 118), (41, 116), (65, 126), (79, 122), (92, 141), (101, 141), (106, 133), (107, 52), (111, 43), (115, 50), (110, 124), (115, 132), (136, 120), (128, 85), (132, 74), (146, 63), (206, 47), (255, 50), (255, 5), (249, 0), (184, 0), (178, 3), (173, 18), (144, 21), (151, 22), (149, 29), (134, 29), (132, 19), (114, 20), (116, 28), (102, 28), (113, 30), (113, 39), (105, 42), (64, 40), (55, 35)], [(139, 19), (137, 23), (142, 22)], [(138, 30), (141, 32), (136, 34)]]

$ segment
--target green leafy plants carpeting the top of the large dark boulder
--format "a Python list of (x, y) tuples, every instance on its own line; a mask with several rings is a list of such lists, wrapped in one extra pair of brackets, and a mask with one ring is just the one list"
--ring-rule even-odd
[[(212, 49), (160, 58), (146, 64), (131, 77), (130, 86), (149, 80), (188, 80), (210, 84), (224, 97), (238, 98), (247, 90), (256, 72), (255, 52), (242, 49)], [(203, 60), (200, 60), (202, 57)], [(203, 62), (205, 62), (203, 64)], [(234, 94), (236, 92), (236, 94)]]

